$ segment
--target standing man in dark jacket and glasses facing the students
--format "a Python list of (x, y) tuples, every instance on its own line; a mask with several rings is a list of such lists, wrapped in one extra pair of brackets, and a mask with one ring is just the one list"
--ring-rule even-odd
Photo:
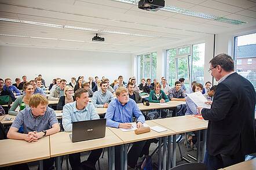
[(204, 163), (209, 169), (228, 167), (256, 152), (255, 90), (244, 77), (234, 72), (234, 61), (219, 54), (210, 61), (209, 72), (218, 81), (210, 109), (198, 108), (209, 120)]

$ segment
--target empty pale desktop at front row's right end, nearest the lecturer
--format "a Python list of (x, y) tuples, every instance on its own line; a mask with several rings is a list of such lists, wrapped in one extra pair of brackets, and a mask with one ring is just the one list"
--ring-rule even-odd
[(170, 117), (153, 121), (155, 123), (158, 123), (159, 125), (162, 125), (165, 128), (169, 128), (169, 130), (177, 132), (177, 134), (203, 130), (206, 129), (208, 126), (207, 121), (198, 120), (193, 118), (192, 116)]

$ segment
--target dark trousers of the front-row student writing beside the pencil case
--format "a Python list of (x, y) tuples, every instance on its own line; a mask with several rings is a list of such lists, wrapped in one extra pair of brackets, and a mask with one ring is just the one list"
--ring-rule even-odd
[[(135, 168), (138, 158), (142, 157), (144, 154), (148, 154), (148, 148), (149, 146), (146, 145), (147, 141), (140, 141), (140, 142), (134, 142), (133, 146), (131, 146), (131, 149), (129, 150), (127, 154), (127, 164), (131, 168)], [(149, 143), (150, 145), (150, 143)], [(120, 153), (121, 153), (121, 146), (115, 146), (115, 169), (120, 169)]]

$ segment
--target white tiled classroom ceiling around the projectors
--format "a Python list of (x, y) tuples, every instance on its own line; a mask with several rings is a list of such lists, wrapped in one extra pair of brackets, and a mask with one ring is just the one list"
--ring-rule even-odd
[[(111, 0), (0, 0), (0, 45), (137, 53), (256, 26), (256, 0), (165, 3), (246, 23), (228, 24), (166, 10), (148, 12), (138, 9), (136, 4)], [(92, 42), (96, 33), (105, 42)]]

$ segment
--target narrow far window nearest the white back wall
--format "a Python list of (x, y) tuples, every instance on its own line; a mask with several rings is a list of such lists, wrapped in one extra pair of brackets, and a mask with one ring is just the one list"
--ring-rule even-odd
[(158, 53), (149, 53), (137, 56), (138, 82), (142, 78), (156, 79), (156, 60)]

